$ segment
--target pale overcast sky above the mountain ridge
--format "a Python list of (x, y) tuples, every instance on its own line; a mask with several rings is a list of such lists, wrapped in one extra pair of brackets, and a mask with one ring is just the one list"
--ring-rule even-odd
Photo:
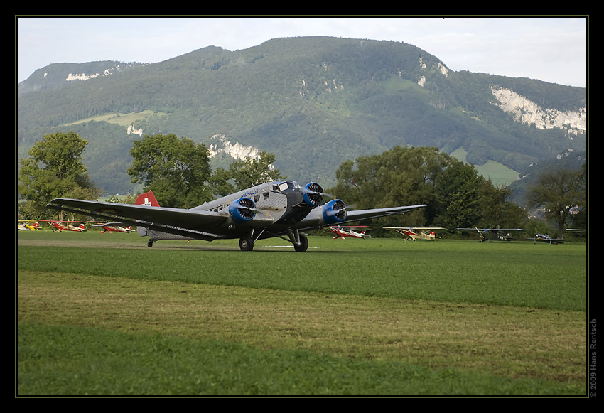
[(51, 63), (157, 63), (215, 45), (335, 36), (415, 45), (455, 71), (586, 87), (588, 19), (581, 17), (43, 18), (16, 16), (17, 81)]

